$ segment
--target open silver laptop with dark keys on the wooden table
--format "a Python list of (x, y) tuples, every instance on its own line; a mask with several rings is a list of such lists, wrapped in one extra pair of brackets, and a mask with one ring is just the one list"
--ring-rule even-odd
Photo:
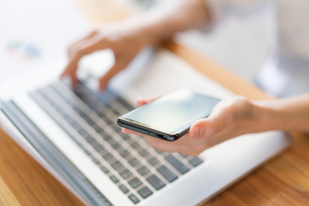
[(12, 81), (0, 88), (0, 125), (91, 206), (198, 205), (291, 144), (292, 137), (279, 131), (248, 134), (192, 157), (158, 151), (143, 137), (122, 134), (116, 118), (139, 97), (178, 87), (221, 99), (233, 96), (172, 53), (150, 53), (134, 60), (103, 92), (97, 91), (91, 69), (80, 73), (74, 89), (68, 79), (58, 79), (59, 66)]

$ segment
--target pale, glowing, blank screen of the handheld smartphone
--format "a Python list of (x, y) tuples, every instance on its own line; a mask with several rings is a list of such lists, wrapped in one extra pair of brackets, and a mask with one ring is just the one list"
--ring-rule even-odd
[(174, 134), (193, 122), (209, 116), (219, 100), (178, 89), (152, 103), (137, 108), (121, 118), (158, 131)]

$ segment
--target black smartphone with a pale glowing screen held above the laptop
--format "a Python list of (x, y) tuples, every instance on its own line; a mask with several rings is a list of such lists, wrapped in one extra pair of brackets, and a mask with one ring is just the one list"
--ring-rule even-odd
[(117, 118), (117, 124), (145, 135), (174, 141), (197, 119), (209, 116), (220, 100), (177, 89)]

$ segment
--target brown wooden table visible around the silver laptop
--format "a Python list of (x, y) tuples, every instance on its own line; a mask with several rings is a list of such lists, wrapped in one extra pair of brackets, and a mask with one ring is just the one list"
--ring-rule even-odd
[[(89, 9), (94, 9), (91, 1), (93, 0), (77, 0), (77, 3), (85, 8), (86, 15), (89, 15), (92, 20), (100, 22), (100, 19), (106, 18), (107, 14), (105, 13), (102, 17), (100, 12), (89, 12)], [(95, 7), (100, 10), (97, 8), (98, 5)], [(114, 4), (112, 8), (116, 10)], [(120, 10), (121, 15), (116, 15), (118, 19), (130, 13), (123, 8)], [(115, 15), (115, 12), (109, 9), (108, 11), (109, 18)], [(218, 81), (235, 94), (254, 100), (269, 99), (249, 82), (208, 61), (195, 51), (173, 42), (165, 46), (202, 74)], [(294, 137), (294, 144), (290, 149), (241, 179), (205, 205), (309, 206), (309, 136), (295, 134)], [(0, 206), (19, 205), (81, 206), (83, 204), (0, 130)]]

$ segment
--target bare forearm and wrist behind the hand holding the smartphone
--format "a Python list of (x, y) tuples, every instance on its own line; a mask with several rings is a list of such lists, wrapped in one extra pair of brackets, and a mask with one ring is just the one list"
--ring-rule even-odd
[(254, 103), (259, 130), (309, 133), (309, 93), (274, 101)]

